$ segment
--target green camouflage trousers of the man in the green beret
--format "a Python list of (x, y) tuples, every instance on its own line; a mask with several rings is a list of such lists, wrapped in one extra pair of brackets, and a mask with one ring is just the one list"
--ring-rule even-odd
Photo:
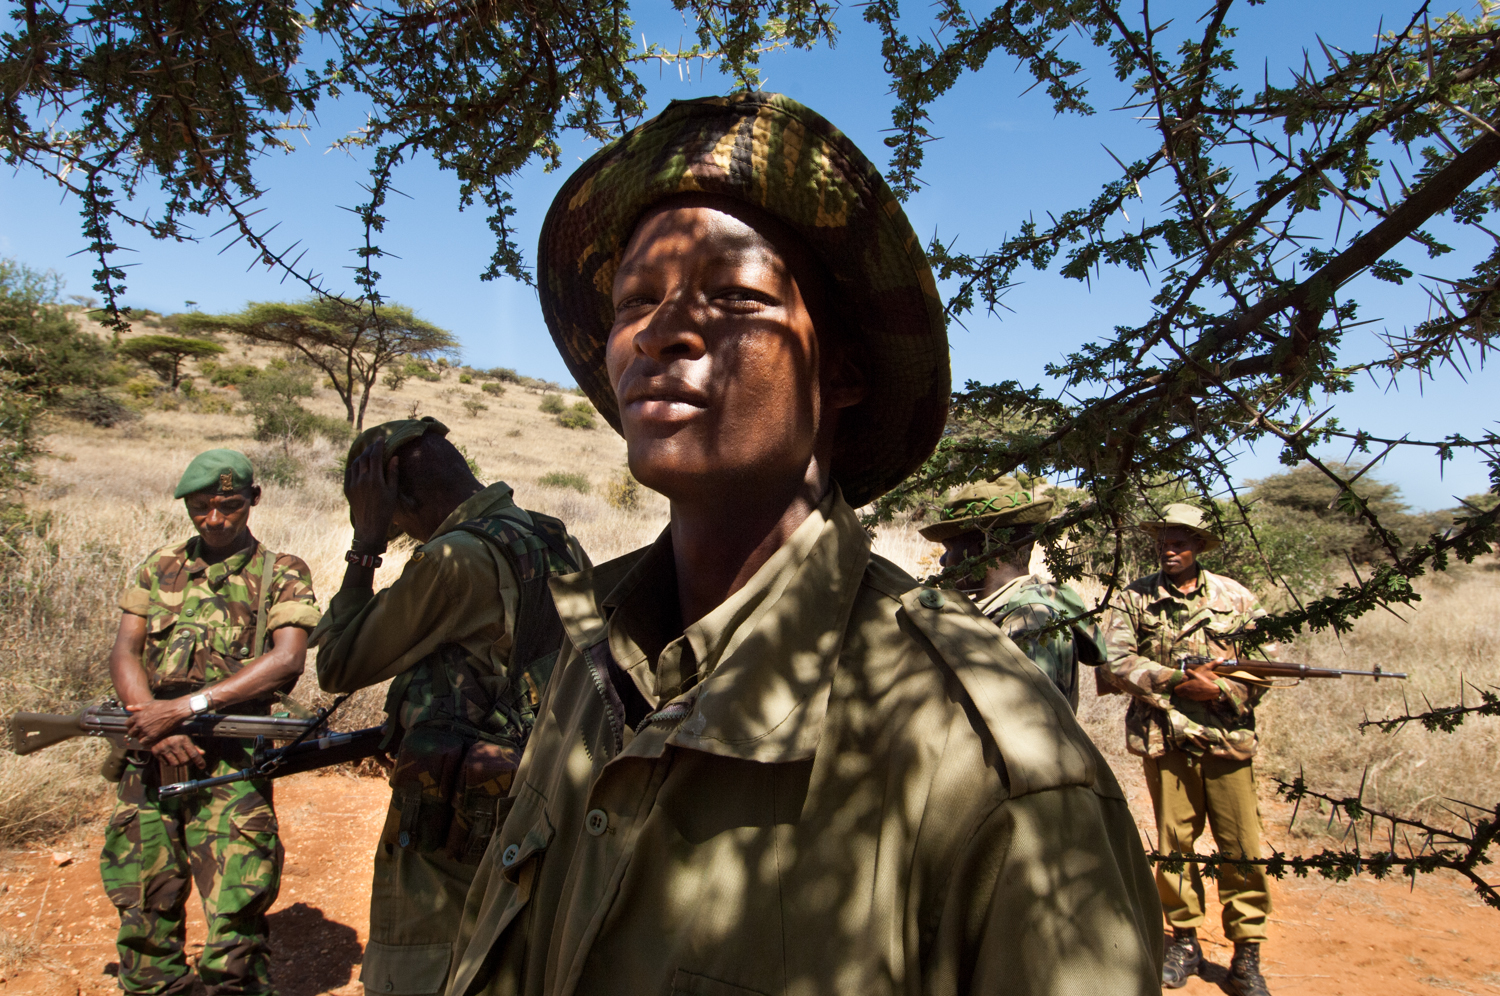
[[(228, 774), (249, 756), (195, 777)], [(105, 831), (99, 873), (120, 910), (120, 988), (132, 996), (188, 993), (186, 910), (198, 884), (208, 936), (198, 978), (210, 996), (273, 993), (266, 914), (280, 890), (282, 844), (268, 782), (236, 782), (160, 801), (130, 765)]]

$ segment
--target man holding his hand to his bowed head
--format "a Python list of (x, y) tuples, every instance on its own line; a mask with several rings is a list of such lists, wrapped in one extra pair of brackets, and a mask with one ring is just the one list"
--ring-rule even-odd
[[(474, 868), (510, 789), (562, 638), (546, 582), (588, 566), (562, 524), (483, 486), (447, 426), (387, 422), (350, 447), (354, 522), (344, 586), (314, 633), (318, 681), (392, 681), (392, 801), (375, 849), (360, 981), (398, 996), (442, 990)], [(418, 546), (374, 591), (387, 538)]]

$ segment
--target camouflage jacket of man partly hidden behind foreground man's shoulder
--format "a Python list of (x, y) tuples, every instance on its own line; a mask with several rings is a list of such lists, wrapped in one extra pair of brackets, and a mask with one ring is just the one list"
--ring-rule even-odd
[[(1078, 592), (1028, 574), (980, 598), (978, 608), (1052, 678), (1077, 712), (1078, 662), (1104, 662), (1104, 633), (1092, 618), (1080, 618), (1089, 609)], [(1078, 621), (1056, 626), (1059, 620), (1070, 618)]]

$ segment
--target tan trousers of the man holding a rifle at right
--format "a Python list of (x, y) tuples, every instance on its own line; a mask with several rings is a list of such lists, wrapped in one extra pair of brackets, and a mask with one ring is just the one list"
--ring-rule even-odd
[[(1146, 784), (1156, 810), (1158, 848), (1162, 854), (1192, 854), (1203, 836), (1203, 822), (1227, 858), (1260, 858), (1260, 802), (1250, 760), (1197, 758), (1172, 750), (1146, 758)], [(1270, 915), (1266, 870), (1251, 866), (1240, 872), (1220, 866), (1220, 903), (1224, 904), (1224, 936), (1228, 940), (1264, 940)], [(1203, 922), (1203, 878), (1197, 866), (1184, 872), (1156, 870), (1161, 909), (1173, 927)]]

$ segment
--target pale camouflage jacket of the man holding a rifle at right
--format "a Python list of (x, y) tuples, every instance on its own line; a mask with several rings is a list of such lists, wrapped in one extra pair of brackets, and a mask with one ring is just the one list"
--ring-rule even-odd
[(1194, 702), (1172, 693), (1186, 678), (1172, 663), (1184, 656), (1234, 656), (1226, 638), (1254, 628), (1263, 615), (1250, 590), (1206, 570), (1190, 592), (1158, 572), (1116, 596), (1104, 622), (1108, 660), (1100, 672), (1132, 699), (1125, 714), (1132, 754), (1186, 750), (1236, 760), (1256, 754), (1256, 704), (1264, 688), (1220, 678), (1218, 702)]

